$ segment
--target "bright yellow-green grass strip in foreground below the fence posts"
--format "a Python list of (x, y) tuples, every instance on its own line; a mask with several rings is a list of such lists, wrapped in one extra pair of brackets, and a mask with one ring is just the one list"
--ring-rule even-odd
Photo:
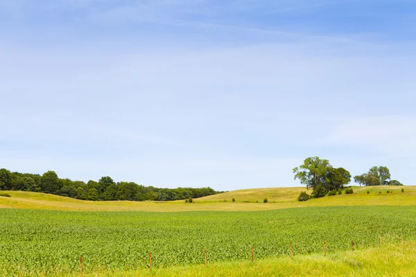
[[(187, 267), (140, 269), (137, 271), (96, 271), (83, 276), (416, 276), (416, 242), (381, 244), (381, 247), (312, 255), (218, 262)], [(79, 276), (57, 271), (56, 276)]]

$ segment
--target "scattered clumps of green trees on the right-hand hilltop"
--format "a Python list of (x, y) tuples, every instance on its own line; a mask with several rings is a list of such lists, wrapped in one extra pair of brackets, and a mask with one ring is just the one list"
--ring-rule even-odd
[[(300, 201), (340, 194), (352, 177), (345, 168), (333, 168), (328, 160), (319, 157), (306, 158), (302, 165), (293, 168), (293, 173), (295, 179), (312, 189), (311, 195), (302, 192)], [(367, 173), (355, 176), (354, 181), (360, 186), (403, 186), (399, 181), (391, 180), (390, 170), (385, 166), (374, 166)], [(352, 190), (345, 193), (352, 193)]]

